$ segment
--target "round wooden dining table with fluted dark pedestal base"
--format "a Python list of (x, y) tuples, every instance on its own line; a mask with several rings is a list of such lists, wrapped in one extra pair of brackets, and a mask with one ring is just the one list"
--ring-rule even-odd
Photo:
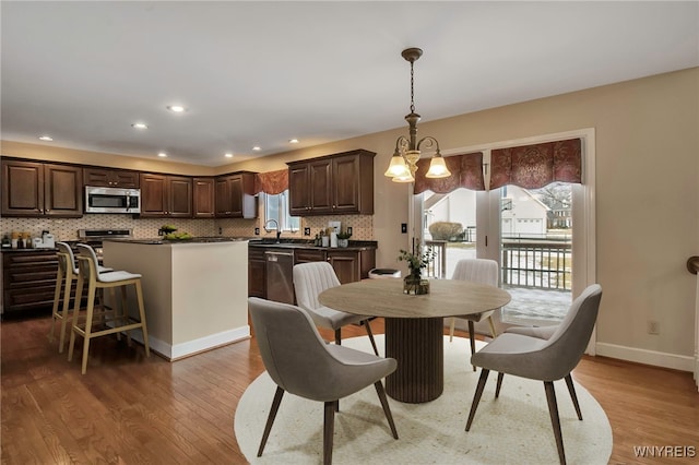
[[(500, 288), (460, 279), (431, 279), (425, 295), (403, 294), (403, 279), (364, 279), (327, 289), (320, 303), (348, 313), (386, 319), (386, 356), (396, 370), (386, 392), (396, 401), (424, 403), (445, 386), (443, 318), (481, 313), (507, 305)], [(464, 366), (467, 365), (464, 354)]]

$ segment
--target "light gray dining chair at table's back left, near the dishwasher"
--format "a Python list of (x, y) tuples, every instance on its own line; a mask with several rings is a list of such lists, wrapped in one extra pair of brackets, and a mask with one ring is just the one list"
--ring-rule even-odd
[(294, 265), (294, 290), (296, 293), (296, 303), (306, 310), (313, 323), (320, 327), (330, 329), (335, 332), (335, 344), (342, 344), (342, 326), (347, 324), (363, 324), (367, 330), (374, 353), (379, 355), (369, 317), (347, 313), (324, 307), (318, 301), (318, 296), (325, 289), (340, 286), (340, 279), (335, 271), (328, 262), (309, 262)]

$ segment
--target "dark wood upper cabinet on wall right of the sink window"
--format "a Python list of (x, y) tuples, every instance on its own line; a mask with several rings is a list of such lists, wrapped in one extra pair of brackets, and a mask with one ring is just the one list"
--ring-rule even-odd
[(375, 156), (357, 150), (288, 163), (291, 214), (372, 215)]

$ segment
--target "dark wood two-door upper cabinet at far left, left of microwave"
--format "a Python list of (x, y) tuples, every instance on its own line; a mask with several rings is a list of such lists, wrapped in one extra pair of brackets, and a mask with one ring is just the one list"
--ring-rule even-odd
[(2, 216), (80, 217), (82, 168), (2, 158)]

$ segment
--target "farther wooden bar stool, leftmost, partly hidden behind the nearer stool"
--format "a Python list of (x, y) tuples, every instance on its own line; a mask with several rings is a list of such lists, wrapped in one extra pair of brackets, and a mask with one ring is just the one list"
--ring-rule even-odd
[[(51, 324), (51, 331), (48, 334), (48, 339), (54, 342), (54, 333), (56, 332), (56, 320), (61, 321), (61, 335), (58, 343), (58, 353), (63, 353), (63, 343), (66, 341), (66, 323), (70, 319), (70, 291), (73, 286), (73, 278), (78, 278), (80, 270), (75, 266), (75, 257), (73, 250), (66, 242), (56, 242), (58, 249), (58, 274), (56, 275), (56, 291), (54, 293), (54, 311), (51, 318), (54, 319)], [(98, 273), (108, 273), (112, 269), (99, 266)], [(61, 289), (63, 289), (63, 306), (59, 310), (61, 300)], [(81, 300), (80, 295), (75, 296), (75, 299)]]

